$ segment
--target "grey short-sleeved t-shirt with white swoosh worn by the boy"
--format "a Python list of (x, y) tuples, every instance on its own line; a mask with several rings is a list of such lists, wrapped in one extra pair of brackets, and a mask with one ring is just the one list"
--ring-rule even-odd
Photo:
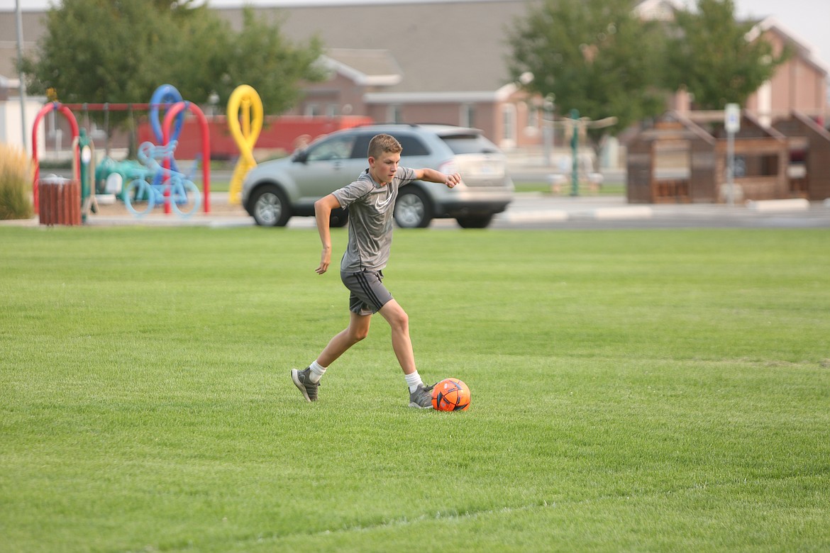
[(366, 169), (356, 181), (332, 192), (340, 207), (349, 208), (349, 245), (340, 261), (341, 271), (379, 271), (386, 266), (398, 188), (414, 180), (413, 169), (398, 167), (392, 182), (381, 186)]

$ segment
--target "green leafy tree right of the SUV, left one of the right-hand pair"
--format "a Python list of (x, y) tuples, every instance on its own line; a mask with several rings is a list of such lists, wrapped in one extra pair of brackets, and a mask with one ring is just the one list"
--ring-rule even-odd
[[(508, 31), (515, 80), (534, 75), (525, 88), (554, 95), (561, 113), (591, 119), (617, 117), (601, 132), (618, 133), (665, 108), (664, 34), (632, 12), (630, 0), (544, 0)], [(596, 145), (598, 135), (594, 135)]]

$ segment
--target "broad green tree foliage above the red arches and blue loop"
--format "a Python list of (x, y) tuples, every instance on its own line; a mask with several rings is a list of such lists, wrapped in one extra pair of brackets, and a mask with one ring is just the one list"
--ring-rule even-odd
[(36, 56), (22, 64), (29, 90), (64, 102), (144, 103), (165, 83), (197, 103), (237, 85), (258, 88), (266, 113), (291, 107), (299, 81), (317, 80), (316, 38), (293, 45), (251, 8), (234, 33), (194, 0), (63, 0), (46, 14)]

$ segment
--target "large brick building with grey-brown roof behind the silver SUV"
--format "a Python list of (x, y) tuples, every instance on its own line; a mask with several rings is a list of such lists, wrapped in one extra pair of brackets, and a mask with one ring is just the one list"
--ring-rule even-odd
[[(329, 48), (331, 79), (310, 85), (293, 114), (368, 115), (378, 122), (473, 126), (503, 148), (539, 143), (524, 93), (510, 80), (505, 29), (525, 0), (388, 2), (257, 8), (284, 17), (292, 40)], [(242, 11), (221, 10), (241, 27)]]

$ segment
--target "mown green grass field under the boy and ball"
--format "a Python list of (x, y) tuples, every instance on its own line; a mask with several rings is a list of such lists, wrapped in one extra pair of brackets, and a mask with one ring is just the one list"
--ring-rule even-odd
[[(335, 258), (345, 234), (334, 234)], [(828, 230), (0, 227), (0, 551), (828, 551)]]

